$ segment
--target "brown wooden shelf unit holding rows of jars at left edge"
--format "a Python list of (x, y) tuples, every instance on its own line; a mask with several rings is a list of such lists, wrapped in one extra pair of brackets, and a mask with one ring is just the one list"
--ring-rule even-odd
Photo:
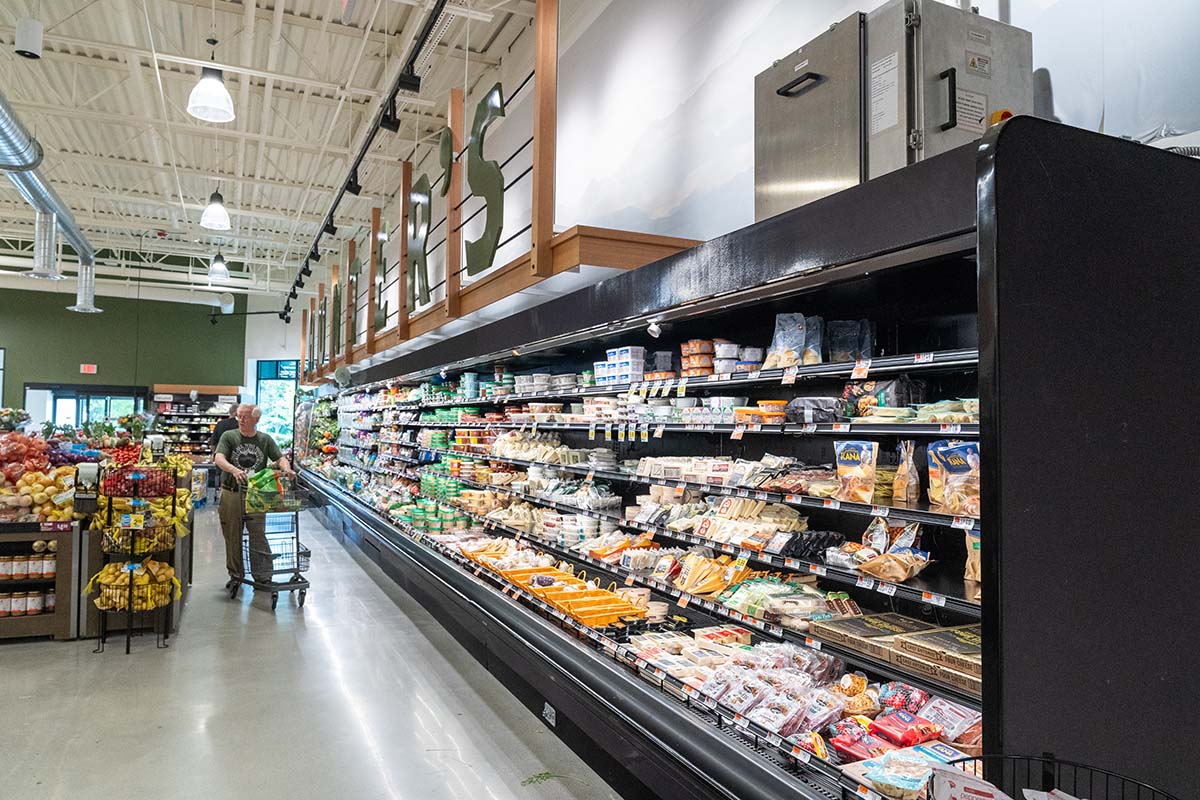
[(55, 575), (53, 578), (0, 581), (0, 593), (54, 589), (55, 608), (40, 614), (5, 616), (0, 619), (0, 639), (53, 636), (73, 639), (78, 633), (76, 613), (79, 593), (76, 575), (79, 563), (79, 523), (77, 522), (11, 522), (0, 523), (0, 555), (26, 553), (36, 541), (56, 542)]

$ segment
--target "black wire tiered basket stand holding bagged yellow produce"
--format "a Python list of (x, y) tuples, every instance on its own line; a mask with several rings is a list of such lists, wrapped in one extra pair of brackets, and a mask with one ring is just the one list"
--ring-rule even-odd
[[(152, 479), (166, 477), (163, 475), (164, 470), (161, 468), (132, 465), (116, 469), (127, 470), (125, 477), (127, 477), (132, 491), (128, 495), (116, 495), (106, 492), (106, 497), (109, 498), (108, 519), (106, 529), (100, 533), (98, 539), (101, 540), (102, 565), (120, 563), (122, 565), (121, 571), (126, 572), (127, 577), (122, 576), (125, 577), (124, 584), (94, 582), (89, 584), (89, 588), (97, 593), (92, 606), (101, 612), (98, 642), (94, 652), (104, 651), (110, 628), (109, 619), (116, 615), (122, 618), (124, 621), (125, 652), (128, 655), (132, 650), (133, 636), (136, 633), (149, 627), (155, 632), (156, 646), (163, 649), (168, 646), (168, 640), (174, 627), (175, 601), (179, 600), (179, 597), (175, 597), (178, 581), (174, 583), (160, 583), (155, 576), (146, 576), (148, 583), (138, 583), (138, 567), (142, 567), (142, 572), (145, 573), (144, 563), (162, 554), (166, 554), (166, 563), (174, 566), (174, 553), (180, 539), (173, 528), (174, 523), (172, 522), (169, 533), (163, 533), (161, 528), (148, 529), (145, 522), (148, 518), (152, 519), (151, 515), (148, 513), (149, 500), (151, 498), (167, 497), (167, 492), (170, 493), (172, 519), (174, 519), (176, 504), (175, 487), (179, 483), (179, 477), (173, 470), (169, 474), (169, 481), (160, 480), (163, 486), (157, 489), (150, 489), (149, 486)], [(102, 486), (106, 477), (110, 475), (112, 471), (106, 470), (104, 477), (101, 479)], [(130, 500), (132, 512), (120, 515), (116, 518), (112, 503), (114, 499)], [(116, 530), (118, 534), (113, 535), (112, 530)], [(156, 533), (149, 534), (148, 530), (155, 530)]]

